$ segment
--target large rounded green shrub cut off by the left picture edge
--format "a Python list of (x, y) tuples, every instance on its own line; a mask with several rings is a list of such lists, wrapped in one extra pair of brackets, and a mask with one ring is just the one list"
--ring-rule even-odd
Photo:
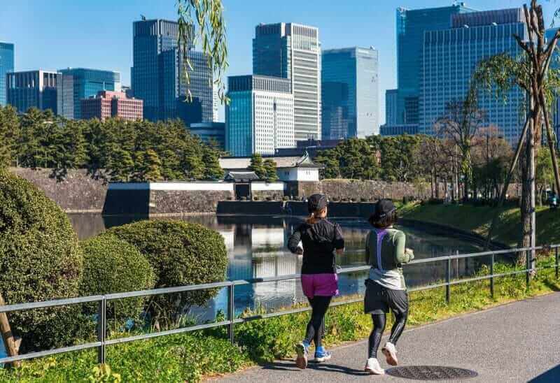
[[(66, 214), (31, 182), (0, 171), (0, 293), (7, 304), (78, 295), (82, 253)], [(79, 305), (12, 312), (21, 352), (68, 345)]]

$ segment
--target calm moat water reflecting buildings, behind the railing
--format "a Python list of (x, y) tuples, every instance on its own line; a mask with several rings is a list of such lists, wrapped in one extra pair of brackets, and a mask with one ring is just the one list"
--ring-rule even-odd
[[(80, 238), (88, 238), (111, 226), (130, 223), (143, 217), (102, 217), (101, 215), (70, 215), (71, 222)], [(297, 217), (254, 216), (194, 216), (180, 217), (215, 229), (225, 239), (228, 249), (228, 278), (246, 280), (258, 277), (274, 277), (299, 273), (301, 256), (291, 254), (286, 245), (288, 237), (302, 222)], [(370, 230), (367, 222), (360, 219), (334, 219), (342, 227), (346, 240), (346, 253), (337, 258), (341, 267), (360, 266), (364, 261), (365, 235)], [(433, 236), (422, 231), (401, 227), (407, 233), (407, 247), (414, 249), (417, 259), (475, 252), (475, 245), (455, 238)], [(451, 275), (472, 275), (477, 265), (474, 259), (460, 259), (452, 263)], [(441, 280), (445, 277), (444, 263), (426, 263), (405, 268), (409, 287)], [(363, 293), (365, 273), (339, 275), (342, 295)], [(262, 307), (267, 310), (305, 301), (298, 281), (268, 282), (236, 287), (235, 308)], [(195, 310), (200, 319), (212, 319), (218, 310), (226, 311), (227, 291), (221, 291), (209, 303), (208, 308)]]

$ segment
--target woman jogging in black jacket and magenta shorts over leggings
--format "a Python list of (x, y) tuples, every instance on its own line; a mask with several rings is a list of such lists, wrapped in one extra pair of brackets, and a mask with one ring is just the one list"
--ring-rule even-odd
[(325, 313), (332, 297), (338, 295), (335, 252), (344, 252), (344, 238), (340, 226), (326, 219), (327, 198), (322, 194), (313, 194), (307, 201), (307, 209), (309, 217), (297, 227), (288, 240), (291, 252), (303, 254), (302, 289), (312, 309), (305, 338), (295, 346), (295, 364), (302, 369), (307, 368), (311, 341), (315, 343), (314, 361), (328, 361), (331, 357), (321, 341)]

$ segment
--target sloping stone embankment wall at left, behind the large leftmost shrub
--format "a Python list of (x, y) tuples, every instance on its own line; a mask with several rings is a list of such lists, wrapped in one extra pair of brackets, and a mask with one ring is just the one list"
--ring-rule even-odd
[(85, 170), (69, 170), (65, 180), (52, 178), (50, 169), (10, 168), (10, 171), (43, 190), (66, 212), (102, 212), (107, 184)]

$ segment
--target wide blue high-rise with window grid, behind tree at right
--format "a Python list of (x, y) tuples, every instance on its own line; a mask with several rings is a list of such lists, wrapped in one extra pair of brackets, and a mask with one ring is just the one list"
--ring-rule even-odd
[[(521, 8), (456, 14), (449, 28), (424, 33), (420, 133), (434, 133), (433, 124), (444, 116), (446, 105), (465, 98), (472, 74), (482, 59), (503, 52), (511, 57), (521, 55), (514, 34), (528, 39)], [(507, 94), (507, 103), (481, 91), (478, 108), (486, 113), (485, 123), (498, 127), (504, 138), (514, 144), (524, 121), (523, 102), (524, 92), (519, 87)]]

